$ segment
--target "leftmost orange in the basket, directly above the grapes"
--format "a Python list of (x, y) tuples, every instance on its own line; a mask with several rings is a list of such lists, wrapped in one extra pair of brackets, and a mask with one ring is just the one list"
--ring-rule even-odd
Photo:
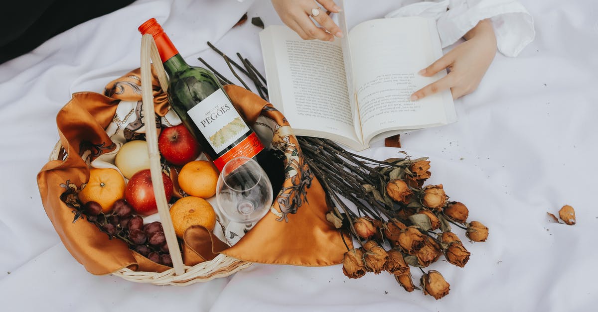
[(125, 186), (124, 178), (117, 170), (92, 168), (87, 185), (79, 192), (79, 199), (83, 203), (96, 201), (102, 211), (108, 213), (115, 201), (124, 198)]

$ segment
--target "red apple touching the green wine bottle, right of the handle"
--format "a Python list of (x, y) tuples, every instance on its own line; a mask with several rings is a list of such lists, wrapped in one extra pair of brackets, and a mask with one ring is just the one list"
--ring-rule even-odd
[(158, 137), (158, 149), (164, 159), (175, 166), (195, 160), (202, 152), (193, 134), (183, 124), (162, 129)]

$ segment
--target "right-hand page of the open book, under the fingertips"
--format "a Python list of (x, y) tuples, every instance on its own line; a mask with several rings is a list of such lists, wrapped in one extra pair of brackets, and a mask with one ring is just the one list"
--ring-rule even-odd
[(350, 30), (353, 74), (365, 142), (389, 130), (447, 123), (445, 94), (418, 101), (409, 99), (414, 91), (446, 75), (446, 71), (434, 77), (417, 74), (437, 59), (431, 42), (432, 32), (437, 33), (435, 23), (422, 17), (370, 20)]

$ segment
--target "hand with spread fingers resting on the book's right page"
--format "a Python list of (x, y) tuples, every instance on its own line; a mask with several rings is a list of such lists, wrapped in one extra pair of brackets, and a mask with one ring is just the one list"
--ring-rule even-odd
[(448, 68), (449, 74), (417, 90), (411, 100), (422, 99), (448, 88), (453, 99), (473, 92), (486, 74), (496, 54), (496, 36), (490, 20), (482, 20), (463, 37), (466, 39), (432, 65), (419, 72), (424, 77), (431, 77)]

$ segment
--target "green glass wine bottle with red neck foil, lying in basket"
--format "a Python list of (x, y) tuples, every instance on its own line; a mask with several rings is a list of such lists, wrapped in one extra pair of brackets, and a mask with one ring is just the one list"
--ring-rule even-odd
[(170, 106), (218, 170), (236, 157), (254, 158), (266, 170), (264, 164), (269, 157), (264, 145), (214, 74), (188, 65), (155, 19), (139, 26), (139, 32), (154, 37), (170, 78), (167, 92)]

